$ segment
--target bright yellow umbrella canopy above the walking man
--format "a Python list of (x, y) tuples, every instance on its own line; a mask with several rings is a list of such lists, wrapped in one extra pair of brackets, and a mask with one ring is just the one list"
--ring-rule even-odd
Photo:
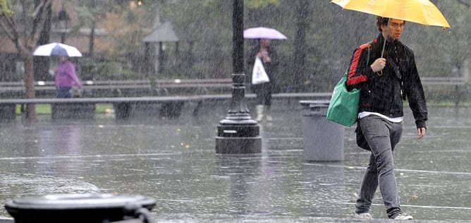
[(429, 0), (332, 0), (342, 8), (422, 25), (451, 28), (444, 15)]

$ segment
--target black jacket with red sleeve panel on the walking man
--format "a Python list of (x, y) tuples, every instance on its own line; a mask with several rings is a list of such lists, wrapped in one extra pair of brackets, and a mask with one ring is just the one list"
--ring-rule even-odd
[[(414, 53), (399, 41), (386, 42), (383, 57), (386, 67), (382, 76), (370, 67), (381, 57), (384, 37), (379, 37), (355, 49), (348, 71), (347, 88), (360, 89), (358, 111), (370, 111), (389, 117), (403, 116), (403, 99), (408, 99), (417, 128), (426, 127), (427, 104)], [(368, 57), (369, 51), (369, 60)]]

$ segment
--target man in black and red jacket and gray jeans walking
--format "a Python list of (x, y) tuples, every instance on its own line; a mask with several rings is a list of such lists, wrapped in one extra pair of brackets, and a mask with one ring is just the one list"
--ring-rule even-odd
[(412, 109), (419, 139), (427, 131), (427, 105), (414, 54), (399, 41), (405, 21), (377, 17), (376, 25), (381, 33), (373, 42), (355, 49), (347, 81), (349, 89), (360, 89), (357, 134), (362, 134), (360, 140), (367, 143), (362, 147), (372, 152), (355, 217), (372, 219), (369, 211), (379, 187), (390, 219), (412, 219), (400, 209), (393, 151), (403, 132), (403, 100), (407, 99)]

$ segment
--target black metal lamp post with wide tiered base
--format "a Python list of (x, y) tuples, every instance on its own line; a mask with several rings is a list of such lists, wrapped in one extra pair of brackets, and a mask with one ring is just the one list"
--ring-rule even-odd
[(233, 74), (231, 108), (226, 119), (219, 122), (216, 153), (242, 154), (262, 151), (262, 138), (257, 121), (250, 117), (245, 99), (243, 73), (243, 0), (233, 1)]

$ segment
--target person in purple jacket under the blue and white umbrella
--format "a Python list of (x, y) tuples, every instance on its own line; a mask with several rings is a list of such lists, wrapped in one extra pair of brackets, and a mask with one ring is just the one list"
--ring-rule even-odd
[(78, 80), (77, 73), (75, 73), (75, 66), (71, 61), (68, 61), (67, 56), (59, 56), (59, 66), (56, 68), (56, 97), (68, 98), (72, 97), (71, 89), (73, 85), (82, 88), (80, 80)]

